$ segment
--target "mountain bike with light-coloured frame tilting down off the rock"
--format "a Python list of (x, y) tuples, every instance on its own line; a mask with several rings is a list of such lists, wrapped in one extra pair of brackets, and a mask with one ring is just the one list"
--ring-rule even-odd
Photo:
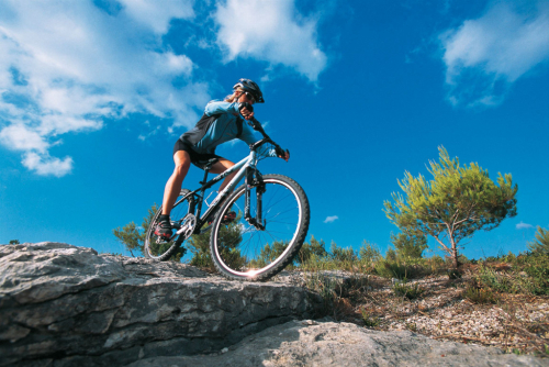
[[(160, 207), (146, 233), (145, 256), (167, 260), (193, 234), (211, 231), (212, 260), (226, 278), (267, 280), (293, 260), (309, 231), (309, 200), (293, 179), (259, 173), (257, 164), (261, 157), (257, 148), (272, 144), (278, 155), (285, 152), (265, 133), (256, 119), (248, 123), (262, 138), (249, 146), (247, 157), (210, 181), (206, 181), (209, 171), (217, 159), (205, 163), (201, 187), (194, 191), (182, 189), (173, 204), (170, 216), (176, 233), (168, 241), (154, 234)], [(201, 216), (205, 191), (234, 171), (237, 171), (235, 177)], [(235, 189), (243, 178), (244, 185)], [(227, 223), (224, 216), (231, 211), (237, 215)]]

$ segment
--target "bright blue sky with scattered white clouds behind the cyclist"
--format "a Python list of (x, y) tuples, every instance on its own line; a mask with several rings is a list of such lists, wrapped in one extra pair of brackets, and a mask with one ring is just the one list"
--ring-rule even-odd
[(112, 230), (161, 201), (175, 141), (242, 77), (291, 152), (261, 171), (303, 186), (328, 245), (385, 251), (383, 201), (440, 145), (518, 184), (518, 215), (467, 256), (549, 227), (547, 0), (0, 0), (0, 243), (122, 253)]

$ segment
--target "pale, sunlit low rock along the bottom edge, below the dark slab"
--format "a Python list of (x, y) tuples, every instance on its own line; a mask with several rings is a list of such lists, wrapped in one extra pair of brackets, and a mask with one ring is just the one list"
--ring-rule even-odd
[(549, 366), (547, 359), (503, 354), (407, 331), (378, 332), (349, 323), (291, 321), (244, 338), (227, 353), (155, 357), (128, 367), (160, 366)]

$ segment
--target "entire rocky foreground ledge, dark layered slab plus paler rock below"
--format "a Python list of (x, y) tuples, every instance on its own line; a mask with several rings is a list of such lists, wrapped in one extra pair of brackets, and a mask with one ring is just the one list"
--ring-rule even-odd
[(320, 297), (284, 277), (227, 281), (59, 243), (2, 245), (0, 268), (0, 366), (549, 366), (306, 320), (320, 315)]

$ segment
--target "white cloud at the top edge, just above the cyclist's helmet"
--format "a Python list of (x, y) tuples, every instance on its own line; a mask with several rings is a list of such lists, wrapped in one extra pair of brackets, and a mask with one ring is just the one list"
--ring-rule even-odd
[(316, 81), (327, 57), (316, 41), (317, 20), (301, 18), (293, 0), (227, 0), (214, 15), (227, 60), (255, 58), (284, 65)]

